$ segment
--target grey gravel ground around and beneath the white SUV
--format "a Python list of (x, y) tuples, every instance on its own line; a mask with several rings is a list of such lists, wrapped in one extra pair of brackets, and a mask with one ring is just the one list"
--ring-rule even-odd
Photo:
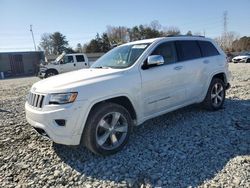
[(149, 120), (109, 157), (33, 131), (24, 102), (38, 78), (0, 80), (0, 187), (250, 187), (250, 64), (230, 70), (224, 109)]

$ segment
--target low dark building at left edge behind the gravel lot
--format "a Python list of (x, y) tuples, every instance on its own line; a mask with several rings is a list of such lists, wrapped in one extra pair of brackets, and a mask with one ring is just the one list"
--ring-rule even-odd
[(0, 73), (5, 77), (37, 75), (39, 64), (45, 61), (44, 52), (0, 52)]

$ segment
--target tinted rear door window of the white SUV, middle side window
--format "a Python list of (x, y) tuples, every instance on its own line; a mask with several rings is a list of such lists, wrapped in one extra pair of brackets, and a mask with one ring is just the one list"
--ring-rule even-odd
[(178, 57), (180, 61), (196, 59), (201, 57), (200, 47), (196, 41), (176, 41)]

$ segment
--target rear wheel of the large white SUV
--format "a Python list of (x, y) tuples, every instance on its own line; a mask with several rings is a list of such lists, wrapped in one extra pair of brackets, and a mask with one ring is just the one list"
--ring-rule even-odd
[(225, 83), (219, 78), (213, 78), (203, 101), (203, 106), (208, 110), (219, 110), (224, 104), (225, 96)]

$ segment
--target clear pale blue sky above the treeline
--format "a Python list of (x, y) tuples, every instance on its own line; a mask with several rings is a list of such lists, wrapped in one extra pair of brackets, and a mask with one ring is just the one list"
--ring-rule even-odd
[(43, 33), (61, 32), (75, 48), (87, 43), (107, 25), (133, 27), (158, 20), (183, 34), (205, 33), (215, 38), (227, 30), (250, 36), (250, 0), (0, 0), (0, 52), (33, 51)]

